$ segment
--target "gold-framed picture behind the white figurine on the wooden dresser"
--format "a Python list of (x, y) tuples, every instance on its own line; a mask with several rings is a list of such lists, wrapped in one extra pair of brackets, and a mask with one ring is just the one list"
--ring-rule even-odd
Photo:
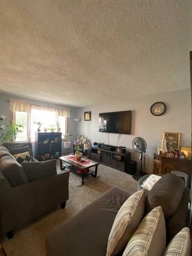
[(167, 150), (170, 151), (170, 147), (174, 150), (180, 148), (180, 133), (164, 132), (163, 138), (166, 139)]

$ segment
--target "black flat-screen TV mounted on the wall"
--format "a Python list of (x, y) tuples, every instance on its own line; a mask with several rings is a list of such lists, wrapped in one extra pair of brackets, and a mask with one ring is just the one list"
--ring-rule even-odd
[(99, 114), (99, 132), (131, 133), (131, 110)]

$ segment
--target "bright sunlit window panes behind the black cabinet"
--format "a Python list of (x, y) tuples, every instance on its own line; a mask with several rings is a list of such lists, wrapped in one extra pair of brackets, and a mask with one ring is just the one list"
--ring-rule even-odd
[[(15, 123), (23, 125), (23, 132), (19, 133), (15, 141), (27, 141), (30, 137), (32, 141), (35, 141), (35, 132), (37, 132), (38, 125), (34, 123), (34, 121), (40, 121), (41, 132), (44, 132), (44, 128), (47, 128), (48, 132), (51, 125), (54, 125), (55, 131), (57, 131), (56, 127), (56, 118), (57, 113), (46, 111), (46, 110), (34, 110), (32, 109), (31, 114), (26, 112), (17, 112), (15, 111)], [(59, 116), (58, 117), (60, 123), (60, 132), (62, 132), (62, 136), (66, 135), (66, 117)]]

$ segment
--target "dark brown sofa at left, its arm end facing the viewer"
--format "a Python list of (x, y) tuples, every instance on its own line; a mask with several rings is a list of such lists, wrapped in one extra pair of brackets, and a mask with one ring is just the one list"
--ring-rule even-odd
[(8, 238), (58, 205), (65, 207), (68, 198), (69, 172), (29, 182), (23, 167), (0, 145), (0, 230)]

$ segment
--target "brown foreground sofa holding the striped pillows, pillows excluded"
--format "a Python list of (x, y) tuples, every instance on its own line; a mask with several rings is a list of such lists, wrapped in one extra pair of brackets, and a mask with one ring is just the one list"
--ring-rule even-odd
[[(146, 196), (145, 214), (151, 208), (155, 208), (159, 200), (163, 210), (168, 212), (165, 220), (167, 236), (170, 240), (187, 226), (189, 189), (184, 188), (183, 180), (173, 174), (165, 175), (157, 183)], [(108, 237), (114, 219), (130, 195), (129, 191), (115, 186), (74, 217), (55, 227), (46, 240), (47, 255), (106, 255)], [(161, 195), (165, 198), (164, 202), (161, 201)]]

